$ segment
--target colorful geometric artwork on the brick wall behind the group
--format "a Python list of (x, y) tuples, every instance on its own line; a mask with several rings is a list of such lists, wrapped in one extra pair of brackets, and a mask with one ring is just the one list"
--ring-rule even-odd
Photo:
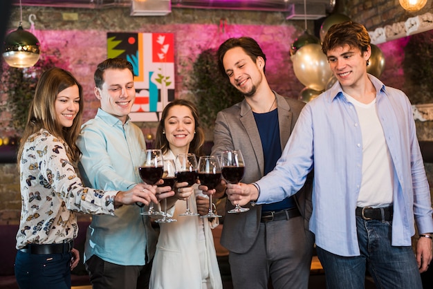
[(157, 122), (174, 100), (173, 33), (107, 33), (107, 55), (131, 62), (136, 102), (129, 117), (134, 122)]

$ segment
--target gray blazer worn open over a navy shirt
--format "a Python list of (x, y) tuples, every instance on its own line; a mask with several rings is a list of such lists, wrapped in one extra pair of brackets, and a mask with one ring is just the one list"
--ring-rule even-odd
[[(282, 149), (284, 149), (305, 104), (277, 93), (275, 95), (278, 104), (280, 142)], [(240, 149), (242, 152), (245, 162), (245, 174), (242, 183), (252, 183), (264, 176), (264, 155), (259, 131), (246, 100), (220, 111), (216, 116), (212, 153), (228, 149)], [(305, 227), (308, 230), (308, 220), (312, 209), (311, 183), (306, 183), (304, 187), (308, 187), (308, 189), (298, 192), (295, 195), (295, 200), (306, 220)], [(226, 209), (232, 209), (232, 207), (228, 201)], [(261, 205), (246, 205), (246, 207), (250, 207), (248, 212), (225, 214), (221, 234), (221, 245), (238, 254), (250, 250), (259, 232)]]

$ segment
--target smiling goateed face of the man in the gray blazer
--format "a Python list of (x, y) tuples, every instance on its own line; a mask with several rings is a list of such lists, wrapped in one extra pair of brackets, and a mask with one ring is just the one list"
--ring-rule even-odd
[(225, 53), (223, 66), (230, 83), (243, 95), (255, 95), (264, 78), (264, 59), (257, 57), (253, 62), (251, 57), (241, 47), (234, 47)]

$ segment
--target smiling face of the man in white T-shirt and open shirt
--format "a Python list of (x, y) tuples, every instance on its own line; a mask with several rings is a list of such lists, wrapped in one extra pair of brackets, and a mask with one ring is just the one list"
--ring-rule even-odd
[(362, 53), (359, 48), (345, 44), (328, 50), (326, 56), (329, 67), (343, 90), (359, 86), (367, 77), (367, 60), (371, 56), (370, 47)]

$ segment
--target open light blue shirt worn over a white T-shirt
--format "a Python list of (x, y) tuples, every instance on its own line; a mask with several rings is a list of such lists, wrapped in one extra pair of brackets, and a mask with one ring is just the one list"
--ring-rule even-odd
[[(407, 96), (369, 75), (376, 88), (378, 117), (394, 169), (392, 245), (409, 246), (418, 232), (433, 232), (430, 188)], [(360, 254), (356, 202), (362, 180), (362, 133), (356, 109), (337, 82), (308, 102), (291, 138), (268, 175), (257, 181), (257, 203), (295, 194), (314, 168), (310, 230), (317, 246), (340, 256)], [(377, 192), (380, 194), (380, 192)]]

